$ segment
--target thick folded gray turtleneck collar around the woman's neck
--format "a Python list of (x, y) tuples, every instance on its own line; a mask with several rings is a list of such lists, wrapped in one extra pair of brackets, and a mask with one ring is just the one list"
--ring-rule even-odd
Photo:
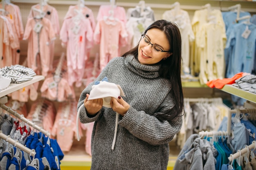
[(160, 65), (144, 65), (139, 63), (138, 59), (133, 55), (127, 55), (124, 59), (124, 65), (144, 78), (157, 78), (159, 77)]

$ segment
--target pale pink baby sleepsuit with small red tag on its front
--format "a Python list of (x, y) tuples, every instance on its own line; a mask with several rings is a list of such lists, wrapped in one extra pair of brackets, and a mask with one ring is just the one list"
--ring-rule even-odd
[(64, 20), (60, 31), (62, 43), (67, 44), (67, 73), (70, 86), (83, 78), (88, 50), (92, 48), (93, 30), (90, 21), (83, 15)]

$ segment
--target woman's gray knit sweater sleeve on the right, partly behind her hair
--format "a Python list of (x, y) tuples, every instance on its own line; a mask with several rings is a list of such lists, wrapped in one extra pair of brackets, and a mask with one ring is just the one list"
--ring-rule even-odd
[[(173, 106), (171, 95), (169, 94), (155, 114), (163, 114)], [(182, 126), (182, 116), (177, 116), (173, 120), (158, 120), (155, 116), (144, 111), (137, 111), (130, 107), (119, 125), (126, 128), (132, 135), (138, 137), (151, 145), (166, 144), (170, 142), (174, 135), (180, 131)]]

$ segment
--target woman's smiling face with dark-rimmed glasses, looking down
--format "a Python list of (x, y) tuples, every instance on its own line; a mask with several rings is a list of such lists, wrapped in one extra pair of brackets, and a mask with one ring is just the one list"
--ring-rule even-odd
[(170, 52), (162, 52), (162, 50), (170, 50), (169, 41), (163, 31), (152, 28), (139, 41), (138, 60), (145, 65), (158, 63), (171, 55)]

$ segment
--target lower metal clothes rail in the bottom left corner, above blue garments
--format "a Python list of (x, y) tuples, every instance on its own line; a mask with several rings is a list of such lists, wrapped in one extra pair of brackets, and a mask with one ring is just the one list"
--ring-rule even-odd
[(10, 137), (10, 135), (5, 135), (4, 133), (2, 133), (2, 131), (0, 131), (0, 138), (4, 139), (6, 142), (12, 144), (13, 146), (23, 150), (24, 152), (28, 153), (30, 156), (35, 157), (36, 155), (36, 151), (34, 149), (29, 149), (26, 146), (20, 144), (18, 142), (18, 140), (14, 140)]

